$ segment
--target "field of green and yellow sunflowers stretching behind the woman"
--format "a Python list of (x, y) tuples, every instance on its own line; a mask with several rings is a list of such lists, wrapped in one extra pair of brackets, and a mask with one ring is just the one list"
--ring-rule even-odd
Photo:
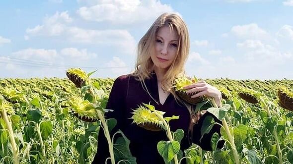
[[(93, 73), (71, 68), (66, 79), (0, 79), (0, 164), (90, 164), (100, 127), (107, 129), (108, 161), (136, 164), (121, 131), (116, 133), (124, 146), (117, 152), (109, 136), (117, 122), (103, 116), (111, 112), (105, 108), (114, 79), (90, 78)], [(204, 80), (222, 93), (222, 106), (207, 109), (223, 122), (221, 136), (212, 137), (214, 151), (194, 144), (183, 157), (178, 146), (184, 132), (168, 130), (168, 121), (176, 117), (165, 118), (150, 105), (141, 107), (162, 121), (157, 125), (170, 141), (160, 141), (158, 152), (167, 164), (183, 159), (188, 164), (293, 164), (293, 80)], [(207, 102), (213, 105), (208, 100), (198, 109), (206, 109)], [(205, 120), (201, 133), (214, 124)], [(217, 149), (221, 140), (224, 147)]]

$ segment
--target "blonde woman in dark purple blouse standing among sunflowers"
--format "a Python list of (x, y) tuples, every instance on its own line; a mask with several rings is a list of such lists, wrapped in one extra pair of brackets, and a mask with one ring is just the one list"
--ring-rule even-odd
[[(106, 117), (117, 119), (117, 126), (111, 133), (118, 129), (123, 131), (130, 140), (130, 151), (136, 157), (137, 164), (164, 164), (156, 145), (161, 140), (168, 140), (163, 130), (149, 131), (132, 123), (133, 120), (130, 118), (133, 109), (142, 103), (150, 103), (155, 109), (165, 111), (164, 117), (179, 115), (179, 119), (171, 120), (169, 125), (173, 132), (179, 128), (184, 130), (182, 151), (187, 149), (191, 142), (204, 150), (211, 150), (212, 135), (215, 132), (220, 133), (220, 126), (215, 125), (200, 142), (203, 118), (194, 124), (195, 119), (191, 114), (193, 107), (180, 100), (172, 89), (174, 79), (184, 75), (189, 47), (189, 34), (185, 22), (177, 14), (164, 13), (155, 20), (140, 40), (135, 71), (118, 77), (113, 84), (106, 107), (113, 109), (113, 112), (106, 113)], [(206, 95), (214, 98), (220, 105), (220, 91), (204, 81), (185, 88), (193, 98)], [(197, 94), (194, 94), (196, 92)], [(202, 117), (207, 115), (211, 114), (207, 112)], [(105, 164), (108, 157), (108, 145), (100, 128), (98, 150), (93, 164)]]

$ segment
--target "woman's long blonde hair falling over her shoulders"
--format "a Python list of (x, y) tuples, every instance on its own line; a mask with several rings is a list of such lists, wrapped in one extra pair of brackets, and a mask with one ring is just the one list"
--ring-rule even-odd
[[(154, 71), (154, 63), (152, 62), (150, 56), (151, 56), (151, 53), (153, 53), (154, 51), (156, 33), (158, 32), (158, 29), (160, 27), (164, 27), (164, 26), (168, 26), (171, 31), (175, 30), (179, 39), (179, 43), (178, 43), (175, 59), (173, 60), (173, 63), (170, 65), (170, 67), (167, 69), (166, 73), (164, 74), (161, 80), (161, 86), (163, 90), (170, 92), (174, 96), (176, 101), (181, 102), (187, 107), (191, 115), (191, 123), (192, 123), (193, 114), (192, 114), (191, 106), (181, 101), (175, 94), (174, 89), (172, 88), (175, 78), (178, 76), (185, 75), (184, 64), (188, 58), (189, 50), (190, 50), (188, 28), (186, 23), (178, 14), (163, 13), (153, 22), (153, 24), (147, 30), (147, 33), (139, 41), (138, 48), (137, 48), (138, 56), (137, 56), (135, 71), (132, 74), (135, 76), (137, 80), (141, 81), (144, 89), (147, 91), (147, 87), (144, 80), (149, 79), (150, 73)], [(148, 91), (147, 93), (149, 94)], [(190, 129), (192, 128), (191, 125), (190, 125)]]

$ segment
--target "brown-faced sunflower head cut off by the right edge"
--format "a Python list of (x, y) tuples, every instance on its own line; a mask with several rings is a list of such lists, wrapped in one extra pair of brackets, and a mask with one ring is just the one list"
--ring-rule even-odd
[(278, 89), (279, 104), (282, 108), (293, 111), (293, 93), (286, 87), (282, 86)]

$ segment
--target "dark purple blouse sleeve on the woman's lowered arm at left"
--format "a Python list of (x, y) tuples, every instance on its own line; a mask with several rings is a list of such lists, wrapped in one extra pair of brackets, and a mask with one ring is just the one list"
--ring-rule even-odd
[[(113, 134), (118, 131), (118, 129), (123, 129), (123, 108), (124, 108), (124, 91), (123, 88), (123, 79), (122, 76), (118, 77), (111, 89), (108, 103), (106, 109), (112, 109), (113, 111), (109, 111), (105, 113), (106, 119), (108, 118), (115, 118), (117, 120), (116, 126), (111, 130), (110, 136), (112, 138)], [(105, 164), (107, 158), (110, 157), (109, 147), (107, 139), (104, 135), (103, 128), (100, 127), (99, 134), (98, 134), (98, 148), (97, 153), (94, 157), (92, 164)], [(110, 160), (108, 160), (110, 164)]]

